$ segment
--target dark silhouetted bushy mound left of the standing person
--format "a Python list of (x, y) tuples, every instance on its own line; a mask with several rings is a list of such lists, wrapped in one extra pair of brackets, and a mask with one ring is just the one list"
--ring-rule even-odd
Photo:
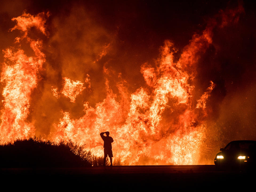
[(91, 153), (71, 140), (54, 143), (38, 138), (17, 139), (0, 145), (0, 154), (1, 168), (91, 166)]

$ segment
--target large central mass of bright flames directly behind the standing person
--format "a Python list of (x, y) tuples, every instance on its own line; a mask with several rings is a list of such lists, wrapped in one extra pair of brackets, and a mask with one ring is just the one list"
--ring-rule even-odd
[[(54, 141), (71, 138), (75, 142), (86, 143), (88, 149), (102, 155), (98, 133), (108, 130), (116, 141), (113, 147), (117, 158), (124, 164), (134, 165), (143, 155), (169, 164), (195, 163), (205, 127), (191, 123), (196, 118), (190, 103), (194, 88), (188, 83), (191, 77), (173, 61), (173, 43), (166, 41), (161, 50), (159, 66), (154, 69), (144, 64), (141, 68), (145, 81), (152, 87), (151, 93), (141, 87), (131, 94), (129, 103), (119, 102), (106, 79), (107, 97), (103, 102), (95, 108), (88, 107), (86, 103), (86, 114), (79, 119), (70, 119), (68, 112), (62, 112), (63, 118), (58, 125), (54, 125), (56, 131), (51, 133), (51, 138)], [(121, 100), (125, 100), (127, 95), (120, 86), (123, 83), (119, 82), (118, 85), (123, 97)], [(172, 106), (167, 105), (170, 100)], [(173, 108), (169, 110), (170, 115), (174, 110), (185, 110), (179, 114), (179, 127), (173, 125), (175, 133), (162, 135), (166, 129), (161, 125), (166, 108)], [(127, 114), (124, 109), (129, 109)], [(164, 149), (165, 154), (158, 154), (158, 149)]]

